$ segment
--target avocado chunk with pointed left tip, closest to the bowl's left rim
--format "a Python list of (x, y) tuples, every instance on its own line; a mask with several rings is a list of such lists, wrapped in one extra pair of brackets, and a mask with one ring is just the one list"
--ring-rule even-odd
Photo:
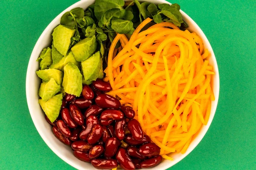
[(49, 82), (53, 78), (58, 85), (61, 85), (63, 79), (62, 71), (53, 68), (36, 71), (36, 74), (46, 82)]

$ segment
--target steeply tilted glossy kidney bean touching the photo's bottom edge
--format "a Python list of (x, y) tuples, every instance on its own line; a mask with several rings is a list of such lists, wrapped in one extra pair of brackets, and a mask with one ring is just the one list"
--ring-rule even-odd
[(119, 147), (116, 152), (116, 160), (119, 162), (120, 167), (122, 167), (124, 170), (134, 170), (135, 166), (133, 162), (131, 161), (130, 156), (127, 153), (127, 150), (125, 150), (122, 147)]

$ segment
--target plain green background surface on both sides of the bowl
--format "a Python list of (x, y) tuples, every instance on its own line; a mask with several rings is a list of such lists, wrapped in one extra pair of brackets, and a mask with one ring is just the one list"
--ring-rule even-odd
[[(26, 103), (26, 69), (47, 25), (78, 0), (0, 0), (0, 169), (57, 170)], [(206, 34), (220, 72), (218, 108), (206, 136), (172, 170), (256, 169), (256, 2), (172, 0)]]

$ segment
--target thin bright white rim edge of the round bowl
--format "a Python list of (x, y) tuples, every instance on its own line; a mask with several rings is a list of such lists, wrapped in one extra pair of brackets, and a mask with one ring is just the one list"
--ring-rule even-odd
[[(56, 20), (60, 20), (61, 16), (66, 12), (66, 11), (70, 11), (71, 9), (75, 8), (76, 6), (79, 6), (81, 4), (83, 4), (84, 2), (86, 2), (87, 0), (80, 0), (76, 3), (74, 3), (73, 5), (69, 6), (68, 8), (66, 8), (64, 11), (62, 11), (60, 14), (58, 14), (50, 23), (49, 25), (44, 29), (44, 31), (42, 32), (42, 34), (40, 35), (40, 37), (38, 38), (34, 48), (33, 48), (33, 51), (31, 53), (31, 56), (29, 58), (29, 64), (28, 64), (28, 68), (27, 68), (27, 72), (26, 72), (26, 100), (27, 100), (27, 105), (28, 105), (28, 108), (29, 108), (29, 113), (30, 113), (30, 116), (32, 118), (32, 121), (38, 131), (38, 133), (40, 134), (41, 138), (44, 140), (44, 142), (47, 144), (47, 146), (59, 157), (61, 158), (63, 161), (67, 162), (67, 164), (70, 164), (70, 166), (78, 169), (79, 166), (76, 166), (76, 163), (73, 163), (72, 161), (70, 161), (67, 156), (63, 156), (57, 149), (55, 149), (54, 145), (47, 139), (47, 136), (44, 135), (43, 133), (43, 130), (39, 127), (39, 125), (37, 125), (35, 123), (35, 119), (36, 116), (32, 114), (32, 104), (29, 102), (30, 101), (30, 93), (29, 93), (29, 82), (30, 82), (30, 77), (29, 75), (31, 74), (31, 66), (33, 64), (33, 56), (35, 55), (36, 53), (36, 47), (38, 45), (40, 45), (40, 42), (41, 40), (43, 39), (43, 37), (45, 36), (45, 34), (49, 31), (52, 31), (51, 27), (52, 25), (56, 22)], [(127, 0), (125, 0), (127, 1)], [(143, 1), (143, 0), (142, 0)], [(165, 0), (156, 0), (160, 3), (169, 3)], [(169, 3), (171, 4), (171, 3)], [(195, 23), (194, 20), (192, 20), (192, 18), (190, 18), (185, 12), (183, 12), (182, 10), (180, 10), (181, 14), (183, 17), (185, 17), (187, 20), (190, 20), (190, 22), (192, 23), (192, 25), (195, 27), (195, 29), (198, 31), (198, 32), (201, 32), (201, 38), (203, 40), (205, 40), (205, 45), (207, 45), (209, 48), (208, 50), (211, 52), (211, 57), (213, 59), (213, 63), (214, 63), (214, 68), (215, 68), (215, 85), (216, 85), (216, 94), (215, 95), (215, 105), (213, 106), (212, 105), (212, 110), (211, 110), (211, 113), (210, 113), (210, 118), (209, 118), (209, 121), (207, 123), (207, 125), (205, 126), (204, 128), (204, 131), (201, 132), (201, 136), (197, 136), (195, 139), (196, 139), (196, 142), (193, 144), (192, 147), (189, 147), (188, 150), (186, 150), (186, 153), (182, 154), (182, 156), (180, 156), (179, 158), (177, 159), (174, 159), (172, 161), (172, 165), (171, 166), (164, 166), (164, 167), (161, 167), (163, 169), (168, 169), (169, 167), (172, 167), (173, 165), (177, 164), (179, 161), (181, 161), (182, 159), (184, 159), (189, 153), (192, 152), (192, 150), (195, 149), (195, 147), (201, 142), (201, 140), (204, 138), (205, 134), (207, 133), (208, 129), (209, 129), (209, 126), (211, 125), (212, 123), (212, 120), (213, 120), (213, 117), (215, 115), (215, 112), (216, 112), (216, 109), (217, 109), (217, 105), (218, 105), (218, 98), (219, 98), (219, 89), (220, 89), (220, 83), (219, 83), (219, 71), (218, 71), (218, 65), (217, 65), (217, 61), (216, 61), (216, 58), (215, 58), (215, 54), (212, 50), (212, 46), (210, 45), (209, 43), (209, 40), (207, 39), (207, 37), (205, 36), (204, 32), (201, 30), (201, 28)], [(51, 29), (51, 30), (49, 30)], [(192, 144), (192, 143), (191, 143)], [(191, 145), (190, 144), (190, 145)], [(158, 166), (157, 166), (158, 167)], [(160, 168), (160, 167), (158, 167)], [(157, 168), (157, 169), (158, 169)], [(151, 168), (151, 169), (154, 169), (154, 168)]]

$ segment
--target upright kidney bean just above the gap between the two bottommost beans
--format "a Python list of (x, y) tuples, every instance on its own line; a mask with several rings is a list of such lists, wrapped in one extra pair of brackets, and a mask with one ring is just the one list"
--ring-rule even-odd
[(111, 158), (116, 154), (116, 150), (120, 145), (120, 141), (115, 137), (109, 138), (105, 143), (105, 158)]

